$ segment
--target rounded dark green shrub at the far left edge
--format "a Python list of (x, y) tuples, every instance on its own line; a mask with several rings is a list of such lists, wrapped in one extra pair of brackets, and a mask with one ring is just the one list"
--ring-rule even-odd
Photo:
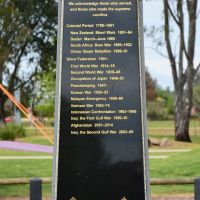
[(22, 125), (7, 124), (0, 130), (2, 140), (15, 140), (15, 138), (25, 137), (25, 130)]

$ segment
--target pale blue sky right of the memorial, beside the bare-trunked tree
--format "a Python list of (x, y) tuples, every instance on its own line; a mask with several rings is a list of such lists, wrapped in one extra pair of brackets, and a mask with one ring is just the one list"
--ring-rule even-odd
[[(200, 7), (200, 5), (198, 5)], [(149, 0), (143, 3), (143, 16), (144, 16), (144, 26), (161, 26), (163, 24), (163, 1), (162, 0)], [(200, 20), (197, 22), (197, 36), (199, 35)], [(148, 67), (153, 78), (157, 79), (157, 82), (163, 88), (170, 87), (173, 90), (173, 81), (171, 75), (171, 68), (169, 60), (152, 49), (154, 46), (152, 39), (145, 36), (144, 41), (145, 46), (145, 65)], [(164, 51), (164, 54), (167, 53)], [(197, 47), (196, 47), (196, 60), (200, 62), (200, 39), (197, 37)]]

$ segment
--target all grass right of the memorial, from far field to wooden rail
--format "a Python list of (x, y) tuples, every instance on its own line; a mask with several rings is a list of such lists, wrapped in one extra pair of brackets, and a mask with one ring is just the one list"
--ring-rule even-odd
[[(200, 176), (200, 122), (191, 121), (190, 143), (174, 143), (173, 146), (164, 147), (167, 149), (193, 149), (187, 153), (150, 153), (150, 155), (167, 155), (167, 159), (150, 159), (151, 178), (189, 178)], [(167, 137), (174, 141), (173, 121), (148, 121), (149, 137), (161, 139)], [(160, 147), (157, 147), (159, 149)], [(178, 194), (193, 193), (193, 185), (171, 185), (151, 186), (153, 194)]]

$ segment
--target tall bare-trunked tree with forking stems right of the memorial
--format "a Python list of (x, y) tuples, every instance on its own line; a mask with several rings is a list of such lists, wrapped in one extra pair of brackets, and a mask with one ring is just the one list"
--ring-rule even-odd
[[(187, 29), (186, 14), (188, 14)], [(193, 82), (200, 67), (200, 64), (194, 65), (196, 22), (197, 0), (175, 2), (164, 0), (165, 43), (175, 89), (175, 139), (177, 141), (191, 142), (189, 124), (193, 103)], [(179, 32), (177, 51), (172, 49), (172, 26)]]

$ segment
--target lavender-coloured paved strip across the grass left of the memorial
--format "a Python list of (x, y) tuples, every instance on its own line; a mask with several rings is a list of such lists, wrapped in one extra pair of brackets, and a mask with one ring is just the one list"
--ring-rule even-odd
[(17, 150), (17, 151), (53, 153), (53, 147), (51, 146), (30, 144), (30, 143), (23, 143), (23, 142), (0, 141), (0, 148)]

